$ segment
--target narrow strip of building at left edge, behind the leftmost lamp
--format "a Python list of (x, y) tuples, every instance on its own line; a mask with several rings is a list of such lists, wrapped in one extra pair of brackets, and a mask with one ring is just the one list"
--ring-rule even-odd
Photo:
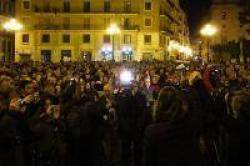
[(0, 61), (14, 60), (14, 37), (13, 33), (3, 29), (3, 24), (14, 15), (14, 2), (0, 0)]

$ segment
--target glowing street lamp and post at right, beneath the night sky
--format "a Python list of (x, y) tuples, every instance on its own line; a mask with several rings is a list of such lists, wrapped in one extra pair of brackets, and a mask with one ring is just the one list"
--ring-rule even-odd
[(210, 60), (210, 41), (209, 39), (217, 33), (217, 28), (214, 25), (206, 24), (200, 31), (201, 35), (207, 38), (208, 60)]

